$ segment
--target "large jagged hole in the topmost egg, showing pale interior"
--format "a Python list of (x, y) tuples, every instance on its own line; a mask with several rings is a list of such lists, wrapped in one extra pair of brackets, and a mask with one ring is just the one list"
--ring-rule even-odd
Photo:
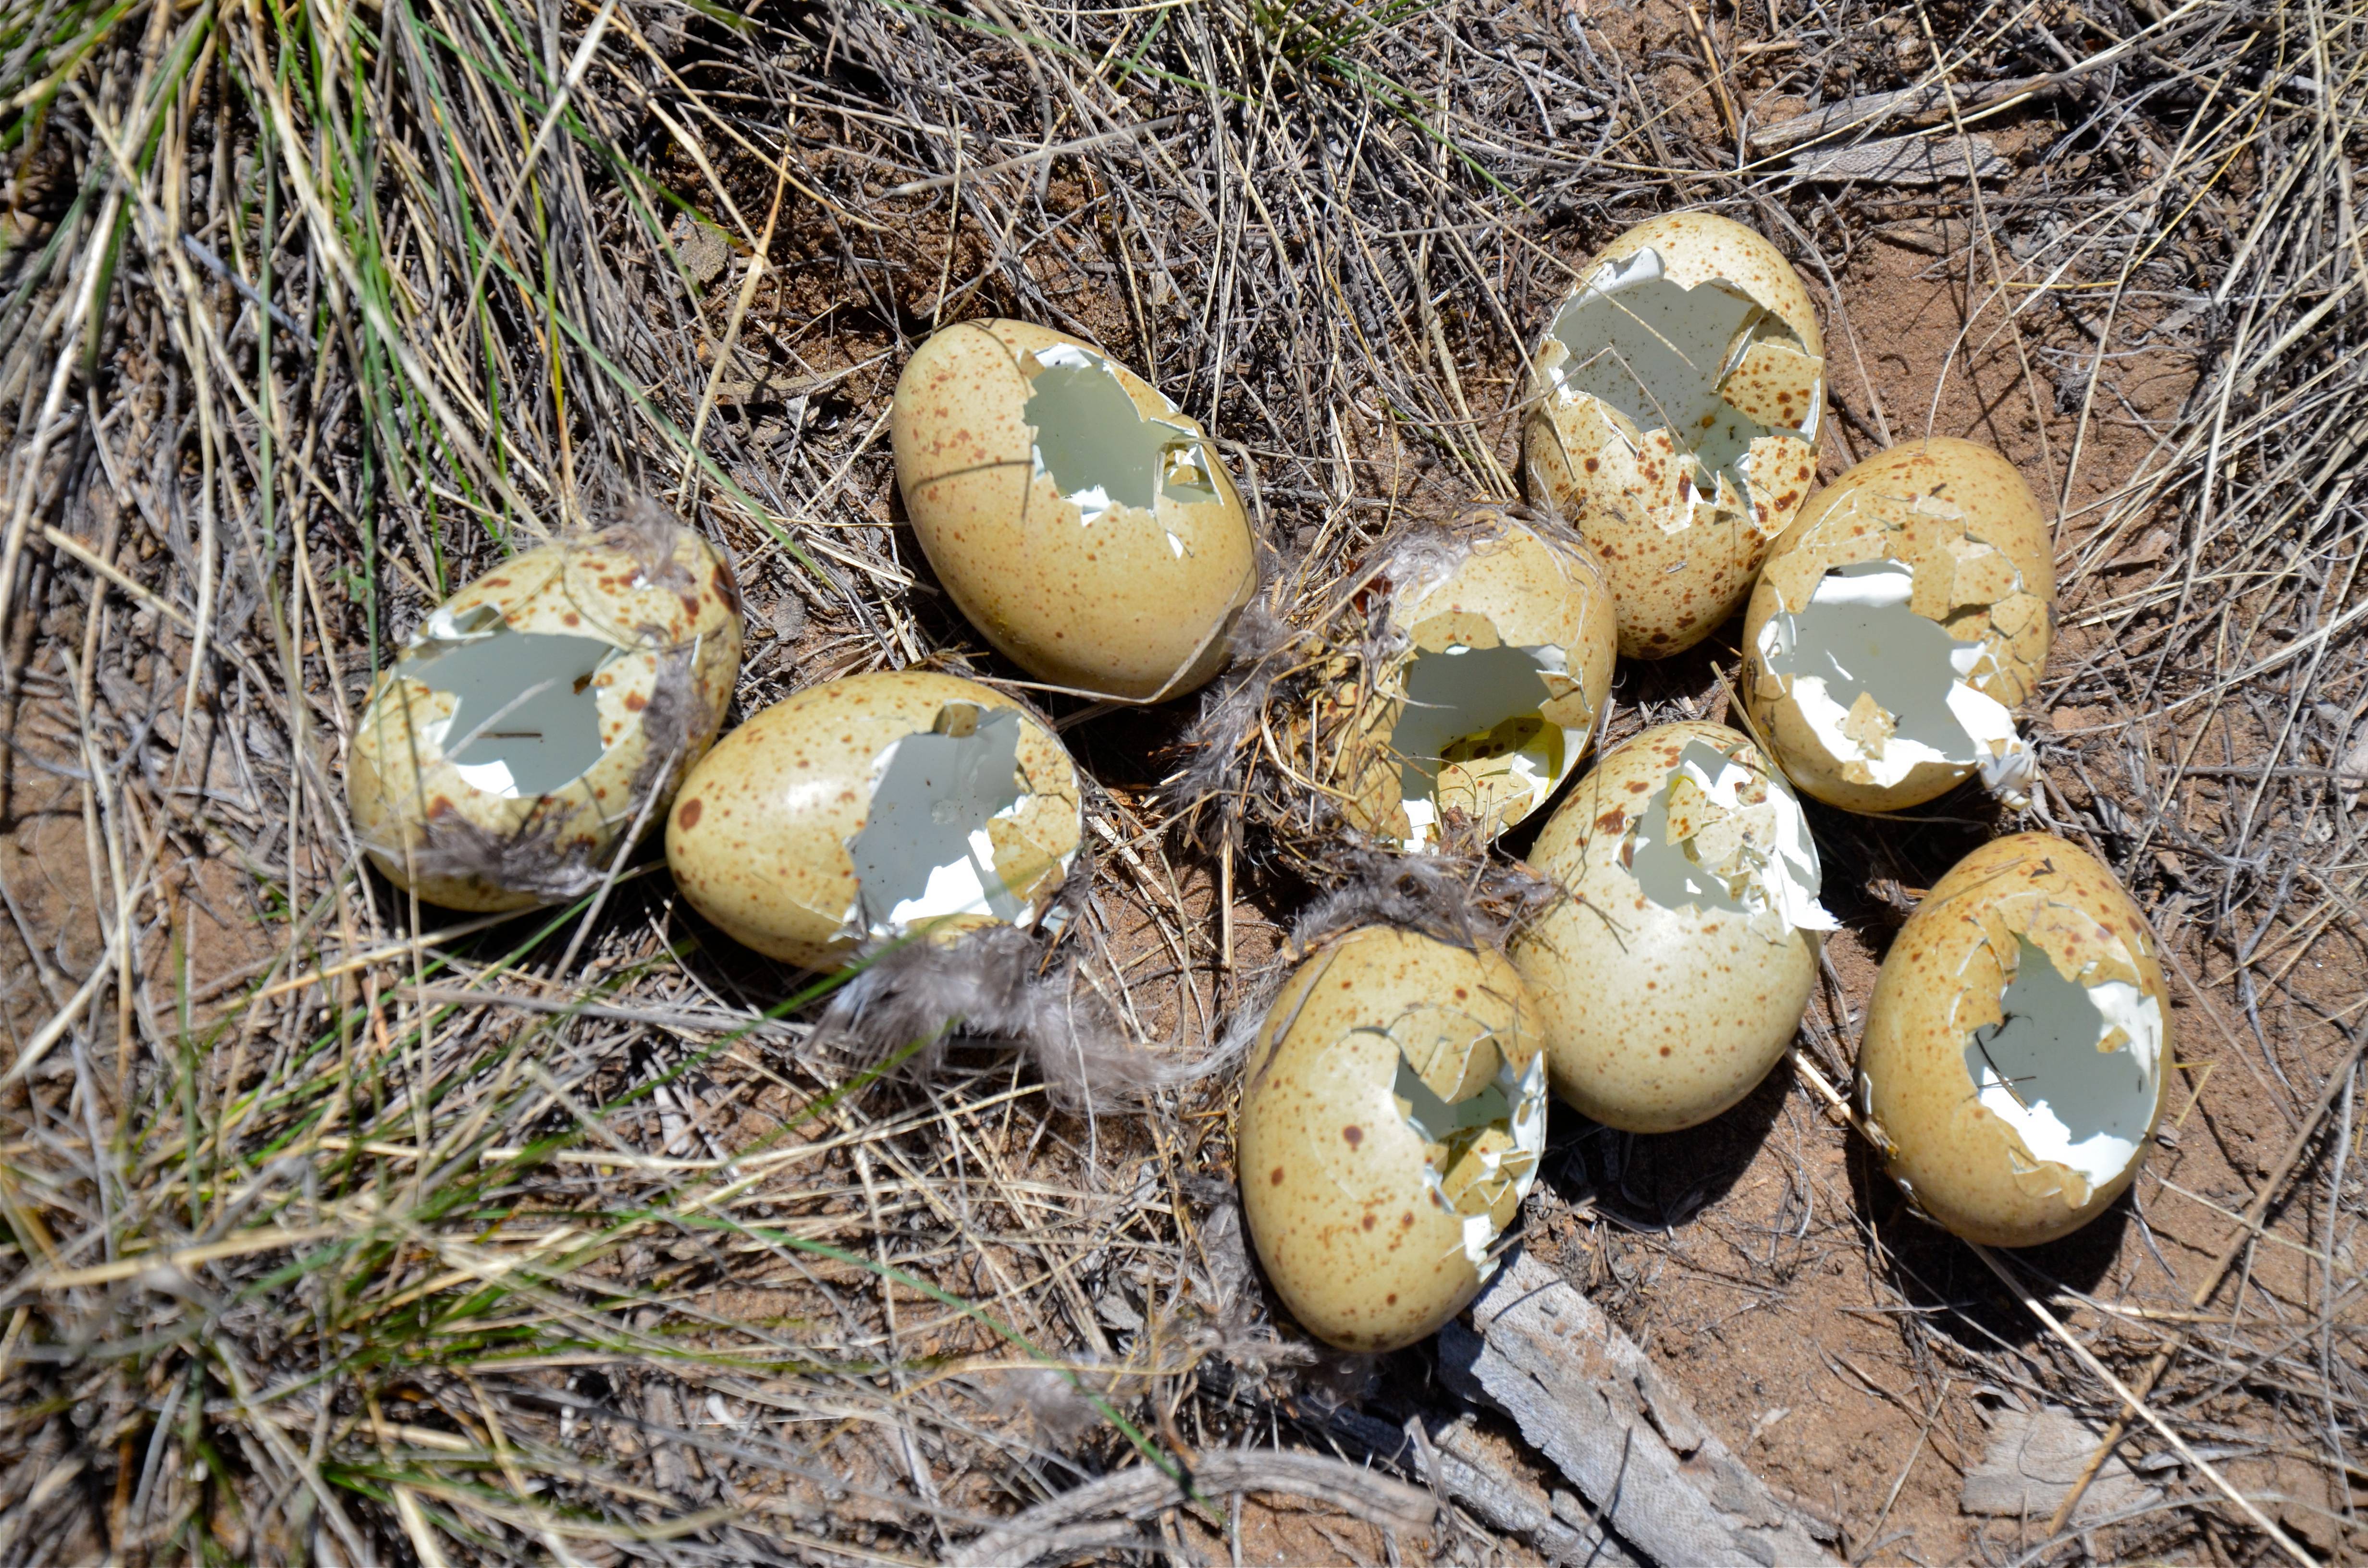
[[(1752, 441), (1816, 441), (1823, 362), (1743, 289), (1724, 279), (1691, 289), (1672, 282), (1650, 246), (1603, 263), (1556, 310), (1546, 343), (1561, 348), (1539, 365), (1553, 398), (1591, 398), (1617, 415), (1606, 422), (1629, 445), (1669, 431), (1693, 467), (1695, 500), (1662, 521), (1669, 533), (1693, 526), (1703, 507), (1752, 509)], [(1797, 422), (1778, 424), (1795, 405)]]

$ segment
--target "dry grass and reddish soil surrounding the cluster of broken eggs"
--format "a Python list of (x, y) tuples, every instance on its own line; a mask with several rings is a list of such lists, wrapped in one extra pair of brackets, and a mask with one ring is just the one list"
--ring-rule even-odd
[[(1279, 595), (1336, 583), (1511, 495), (1544, 308), (1679, 204), (1819, 294), (1828, 471), (2008, 367), (1949, 433), (2060, 505), (2041, 817), (2179, 955), (2183, 1137), (2228, 1180), (2141, 1182), (2112, 1267), (2003, 1267), (2280, 1528), (2359, 1551), (2363, 28), (2259, 0), (9, 0), (0, 1561), (924, 1561), (1137, 1457), (1324, 1447), (1310, 1412), (1362, 1369), (1265, 1310), (1227, 1085), (1103, 1116), (995, 1049), (848, 1073), (803, 1049), (822, 988), (649, 855), (590, 914), (419, 910), (360, 862), (343, 737), (436, 599), (628, 493), (736, 554), (739, 713), (860, 668), (1006, 675), (883, 448), (905, 351), (980, 313), (1148, 372), (1243, 476)], [(2010, 175), (1838, 185), (1762, 133), (1892, 88), (1930, 90), (1826, 147), (1925, 126), (1970, 159), (1970, 126)], [(1909, 400), (1852, 322), (1883, 234), (1963, 306)], [(2162, 365), (2183, 396), (2145, 400)], [(1724, 708), (1719, 647), (1627, 668), (1613, 734)], [(1167, 831), (1189, 703), (1056, 711), (1101, 782), (1061, 962), (1198, 1056), (1302, 891)], [(1868, 931), (1963, 843), (1816, 827)], [(1804, 1033), (1833, 1073), (1854, 985)], [(1532, 1239), (1639, 1331), (1655, 1281), (1781, 1300), (1847, 1267), (1928, 1433), (1975, 1386), (2119, 1412), (2013, 1298), (1935, 1289), (1951, 1244), (1819, 1175), (1847, 1132), (1800, 1082), (1767, 1097), (1781, 1225), (1695, 1217), (1639, 1187), (1662, 1156), (1565, 1127)], [(1395, 1367), (1376, 1409), (1442, 1407), (1421, 1352)], [(1222, 1554), (1262, 1471), (1220, 1471), (1073, 1554)], [(2145, 1473), (2164, 1499), (2119, 1535), (1963, 1554), (2276, 1551), (2176, 1454)], [(1918, 1549), (1906, 1480), (1838, 1504), (1852, 1556)], [(1523, 1561), (1336, 1483), (1276, 1540)]]

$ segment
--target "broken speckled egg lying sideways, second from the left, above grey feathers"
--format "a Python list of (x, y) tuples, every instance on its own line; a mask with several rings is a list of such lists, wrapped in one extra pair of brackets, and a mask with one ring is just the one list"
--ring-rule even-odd
[[(1009, 760), (938, 737), (992, 737)], [(900, 767), (893, 748), (907, 741), (907, 765), (924, 748), (945, 756)], [(983, 760), (1006, 772), (990, 777)], [(886, 838), (862, 841), (874, 822)], [(1080, 836), (1077, 770), (1028, 708), (957, 675), (890, 670), (807, 687), (727, 734), (682, 782), (665, 860), (734, 940), (838, 969), (867, 938), (1032, 926)], [(879, 867), (871, 881), (860, 862)]]

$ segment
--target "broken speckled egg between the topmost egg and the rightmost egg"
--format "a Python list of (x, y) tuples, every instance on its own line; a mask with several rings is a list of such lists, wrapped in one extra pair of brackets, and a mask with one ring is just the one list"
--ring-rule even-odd
[(1759, 732), (1804, 791), (1902, 810), (1965, 777), (2015, 803), (2029, 746), (2010, 708), (2046, 668), (2055, 564), (2010, 462), (1935, 436), (1809, 497), (1743, 623)]

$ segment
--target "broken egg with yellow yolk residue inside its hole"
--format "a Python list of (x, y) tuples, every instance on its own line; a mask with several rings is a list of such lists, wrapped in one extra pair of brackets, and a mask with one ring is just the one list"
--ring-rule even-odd
[[(1584, 540), (1497, 507), (1466, 512), (1456, 535), (1459, 561), (1392, 597), (1407, 651), (1352, 730), (1371, 758), (1347, 770), (1359, 786), (1343, 817), (1409, 848), (1437, 843), (1444, 808), (1487, 822), (1489, 838), (1542, 810), (1587, 758), (1613, 687), (1617, 621)], [(1466, 658), (1478, 680), (1456, 682)]]

